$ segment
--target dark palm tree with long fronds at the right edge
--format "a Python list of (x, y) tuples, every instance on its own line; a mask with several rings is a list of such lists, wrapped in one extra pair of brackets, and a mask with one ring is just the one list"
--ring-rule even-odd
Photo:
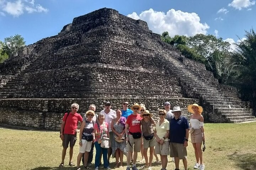
[(254, 29), (246, 31), (246, 39), (236, 43), (230, 62), (234, 67), (230, 80), (241, 89), (245, 98), (256, 100), (256, 33)]

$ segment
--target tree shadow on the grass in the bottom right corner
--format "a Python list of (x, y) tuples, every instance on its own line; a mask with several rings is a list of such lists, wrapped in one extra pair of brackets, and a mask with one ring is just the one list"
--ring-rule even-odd
[(244, 170), (255, 170), (256, 169), (256, 154), (246, 153), (238, 154), (237, 152), (229, 155), (229, 159), (234, 160), (236, 166)]

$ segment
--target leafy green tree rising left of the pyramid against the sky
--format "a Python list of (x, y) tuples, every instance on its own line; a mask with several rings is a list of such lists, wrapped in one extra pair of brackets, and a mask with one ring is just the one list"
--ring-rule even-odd
[(14, 35), (4, 39), (3, 51), (9, 56), (17, 56), (18, 50), (25, 45), (24, 38), (21, 35)]

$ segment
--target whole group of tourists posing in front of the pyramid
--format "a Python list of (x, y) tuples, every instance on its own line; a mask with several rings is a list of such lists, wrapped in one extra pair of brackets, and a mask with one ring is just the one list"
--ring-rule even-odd
[[(94, 146), (96, 148), (95, 170), (102, 164), (103, 167), (111, 169), (109, 166), (110, 157), (116, 159), (116, 166), (123, 167), (123, 155), (127, 158), (127, 168), (138, 170), (136, 167), (138, 152), (141, 152), (145, 165), (143, 169), (152, 170), (151, 164), (153, 155), (156, 161), (161, 161), (161, 170), (166, 170), (168, 158), (175, 162), (175, 170), (179, 170), (180, 159), (183, 161), (185, 170), (188, 169), (187, 149), (189, 133), (194, 148), (196, 164), (194, 169), (204, 170), (202, 158), (202, 143), (204, 138), (203, 128), (203, 108), (198, 104), (188, 105), (188, 112), (192, 113), (190, 124), (185, 116), (181, 115), (179, 106), (170, 110), (170, 103), (165, 102), (165, 109), (158, 111), (160, 120), (155, 122), (153, 114), (146, 110), (144, 104), (137, 104), (128, 109), (128, 102), (122, 103), (123, 108), (116, 111), (111, 109), (111, 103), (104, 104), (105, 109), (100, 114), (95, 114), (96, 106), (91, 104), (89, 110), (82, 118), (77, 113), (79, 105), (71, 105), (71, 112), (65, 113), (60, 130), (60, 138), (63, 143), (62, 162), (59, 167), (64, 166), (64, 159), (68, 145), (69, 166), (75, 166), (72, 162), (73, 147), (76, 143), (77, 133), (79, 133), (79, 154), (77, 157), (77, 170), (81, 170), (80, 162), (84, 168), (92, 168), (92, 158)], [(77, 129), (78, 122), (82, 122), (80, 130)], [(148, 157), (149, 149), (149, 157)], [(160, 161), (157, 155), (160, 155)]]

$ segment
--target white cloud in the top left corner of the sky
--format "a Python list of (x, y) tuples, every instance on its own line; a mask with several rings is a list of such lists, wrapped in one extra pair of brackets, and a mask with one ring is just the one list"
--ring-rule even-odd
[(3, 11), (13, 15), (14, 17), (18, 17), (22, 15), (25, 11), (27, 13), (33, 12), (48, 12), (48, 9), (44, 8), (40, 4), (34, 4), (34, 0), (17, 0), (14, 2), (0, 0), (0, 9)]

